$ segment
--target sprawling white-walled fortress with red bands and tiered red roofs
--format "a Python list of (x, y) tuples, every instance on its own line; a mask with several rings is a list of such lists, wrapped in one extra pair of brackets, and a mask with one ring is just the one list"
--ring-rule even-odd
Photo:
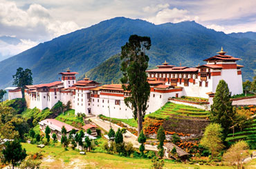
[[(148, 83), (151, 86), (147, 114), (154, 112), (167, 103), (172, 97), (203, 97), (212, 104), (214, 92), (221, 79), (228, 83), (232, 95), (243, 93), (241, 68), (235, 57), (226, 55), (221, 48), (218, 55), (205, 59), (207, 63), (196, 68), (171, 66), (165, 61), (153, 70), (147, 70)], [(52, 108), (57, 101), (66, 104), (71, 102), (75, 114), (104, 115), (120, 119), (131, 119), (133, 113), (125, 105), (125, 97), (131, 94), (122, 89), (121, 84), (100, 83), (84, 78), (75, 80), (77, 72), (61, 72), (62, 81), (26, 86), (25, 99), (28, 108)], [(9, 88), (12, 95), (9, 99), (21, 97), (20, 90)], [(210, 105), (209, 104), (209, 105)]]

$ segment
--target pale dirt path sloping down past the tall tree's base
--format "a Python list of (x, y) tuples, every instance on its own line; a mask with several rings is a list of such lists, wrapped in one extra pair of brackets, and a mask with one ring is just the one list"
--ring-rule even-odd
[[(103, 128), (106, 131), (110, 130), (109, 121), (103, 121), (102, 119), (99, 119), (98, 117), (91, 117), (90, 119), (91, 119), (91, 121), (93, 121), (93, 123), (100, 126), (100, 128)], [(118, 128), (121, 128), (120, 126), (118, 126), (114, 123), (111, 123), (111, 127), (113, 128), (113, 130), (115, 132), (118, 130)], [(134, 148), (139, 148), (139, 146), (140, 146), (140, 143), (138, 143), (138, 141), (137, 141), (137, 137), (135, 135), (131, 134), (131, 132), (129, 132), (129, 131), (127, 131), (127, 133), (125, 133), (124, 141), (131, 142), (132, 144), (134, 144)], [(152, 151), (158, 151), (156, 146), (151, 146), (148, 144), (145, 145), (145, 149), (152, 150)]]

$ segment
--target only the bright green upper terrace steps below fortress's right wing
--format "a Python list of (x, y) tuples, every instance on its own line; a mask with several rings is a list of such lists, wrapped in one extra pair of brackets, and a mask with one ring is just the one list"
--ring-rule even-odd
[(209, 111), (194, 108), (192, 106), (168, 102), (165, 104), (165, 106), (156, 110), (156, 112), (147, 115), (146, 117), (155, 119), (169, 119), (170, 116), (176, 115), (180, 117), (207, 118), (209, 117), (209, 113)]

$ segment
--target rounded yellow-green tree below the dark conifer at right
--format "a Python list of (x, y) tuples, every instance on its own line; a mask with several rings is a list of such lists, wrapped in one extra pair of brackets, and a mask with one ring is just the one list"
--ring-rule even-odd
[(221, 138), (222, 130), (223, 129), (219, 123), (210, 123), (205, 128), (203, 138), (201, 139), (201, 146), (208, 148), (208, 150), (212, 152), (212, 158), (224, 147)]

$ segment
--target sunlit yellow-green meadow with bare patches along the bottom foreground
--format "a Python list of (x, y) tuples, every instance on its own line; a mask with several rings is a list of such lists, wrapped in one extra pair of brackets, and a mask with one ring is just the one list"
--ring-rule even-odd
[[(80, 155), (77, 150), (64, 150), (57, 143), (56, 146), (45, 146), (37, 148), (37, 145), (22, 143), (29, 155), (35, 152), (42, 152), (44, 159), (40, 168), (150, 168), (151, 159), (120, 157), (118, 155), (109, 155), (104, 152), (86, 152), (86, 155)], [(46, 159), (51, 159), (46, 160)], [(175, 163), (171, 160), (165, 160), (165, 168), (196, 168), (196, 165), (185, 163)], [(200, 168), (230, 168), (229, 166), (200, 166)]]

